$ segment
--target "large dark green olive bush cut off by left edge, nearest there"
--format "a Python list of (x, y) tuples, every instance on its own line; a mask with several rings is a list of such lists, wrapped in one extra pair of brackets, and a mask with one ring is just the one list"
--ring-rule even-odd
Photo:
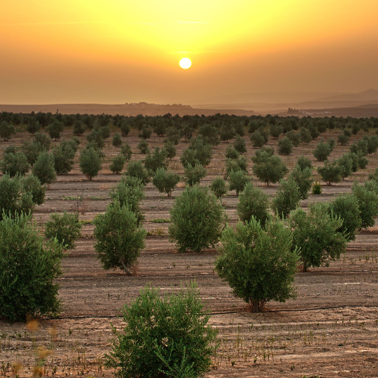
[(31, 216), (3, 214), (0, 221), (0, 318), (56, 315), (62, 246), (43, 242)]

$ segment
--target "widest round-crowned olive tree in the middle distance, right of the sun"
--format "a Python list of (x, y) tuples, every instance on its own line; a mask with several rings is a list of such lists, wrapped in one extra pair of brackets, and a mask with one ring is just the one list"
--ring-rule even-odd
[(256, 151), (256, 155), (252, 157), (254, 163), (252, 167), (253, 173), (263, 182), (276, 183), (283, 178), (287, 172), (286, 166), (282, 163), (279, 156), (273, 155), (273, 151), (260, 150)]

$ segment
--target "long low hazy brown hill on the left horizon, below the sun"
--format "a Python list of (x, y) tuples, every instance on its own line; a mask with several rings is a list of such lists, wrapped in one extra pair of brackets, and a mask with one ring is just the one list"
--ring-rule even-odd
[(111, 114), (111, 115), (129, 115), (136, 116), (143, 115), (164, 115), (171, 113), (172, 115), (214, 115), (234, 114), (234, 115), (252, 115), (255, 114), (253, 110), (244, 109), (196, 109), (190, 105), (183, 104), (156, 104), (156, 103), (125, 103), (125, 104), (99, 104), (99, 103), (59, 103), (47, 105), (1, 105), (0, 111), (11, 111), (13, 113), (37, 113), (51, 112), (62, 114)]

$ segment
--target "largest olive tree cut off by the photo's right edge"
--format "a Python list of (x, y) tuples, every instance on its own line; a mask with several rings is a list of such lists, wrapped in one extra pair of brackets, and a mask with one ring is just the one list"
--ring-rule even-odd
[(378, 194), (355, 182), (352, 186), (353, 196), (357, 198), (361, 211), (361, 228), (372, 227), (378, 216)]

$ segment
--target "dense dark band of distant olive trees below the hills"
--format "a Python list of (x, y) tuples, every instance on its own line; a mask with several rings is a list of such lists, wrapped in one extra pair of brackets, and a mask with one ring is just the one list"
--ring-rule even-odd
[[(167, 113), (162, 116), (124, 116), (108, 114), (53, 114), (53, 113), (12, 113), (1, 112), (0, 122), (2, 128), (8, 126), (24, 127), (34, 134), (40, 129), (60, 129), (73, 127), (73, 133), (83, 134), (86, 130), (99, 129), (102, 127), (115, 126), (120, 129), (123, 136), (126, 136), (130, 129), (153, 131), (157, 135), (166, 135), (173, 130), (180, 130), (181, 137), (190, 139), (194, 130), (203, 126), (215, 127), (221, 140), (228, 140), (235, 134), (243, 135), (247, 129), (249, 133), (254, 133), (264, 129), (264, 133), (269, 133), (272, 137), (278, 137), (281, 133), (307, 129), (314, 136), (323, 133), (327, 129), (350, 129), (352, 134), (357, 134), (360, 130), (378, 129), (378, 118), (352, 118), (352, 117), (297, 117), (297, 116), (236, 116), (217, 113), (215, 115), (172, 115)], [(51, 127), (54, 125), (54, 127)], [(269, 128), (267, 130), (267, 127)], [(186, 131), (185, 131), (186, 130)], [(270, 132), (269, 132), (270, 131)], [(147, 132), (148, 134), (148, 132)], [(223, 135), (223, 137), (222, 137)]]

